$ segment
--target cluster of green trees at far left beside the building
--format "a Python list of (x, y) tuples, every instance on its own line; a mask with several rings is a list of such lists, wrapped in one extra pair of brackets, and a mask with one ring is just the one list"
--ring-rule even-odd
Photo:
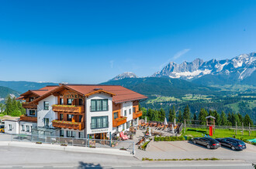
[(7, 96), (5, 103), (0, 103), (0, 113), (9, 115), (12, 117), (19, 117), (26, 113), (26, 110), (22, 107), (22, 103), (16, 100), (16, 97)]

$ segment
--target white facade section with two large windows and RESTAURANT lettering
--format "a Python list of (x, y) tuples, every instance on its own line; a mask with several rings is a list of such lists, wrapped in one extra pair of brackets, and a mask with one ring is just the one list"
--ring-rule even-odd
[[(91, 111), (92, 100), (108, 100), (108, 110), (107, 111)], [(91, 129), (92, 117), (108, 117), (109, 127), (101, 129)], [(88, 134), (99, 134), (107, 133), (109, 137), (109, 132), (112, 132), (112, 96), (106, 93), (97, 93), (92, 96), (88, 96), (85, 100), (85, 136)]]

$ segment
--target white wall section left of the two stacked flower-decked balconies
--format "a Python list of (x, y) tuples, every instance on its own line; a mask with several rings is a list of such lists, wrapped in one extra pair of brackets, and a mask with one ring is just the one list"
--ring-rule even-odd
[[(49, 102), (49, 110), (43, 109), (45, 101)], [(44, 127), (46, 124), (45, 118), (49, 119), (49, 127), (53, 128), (52, 121), (57, 120), (57, 113), (52, 110), (52, 105), (57, 104), (57, 96), (50, 95), (47, 98), (40, 100), (37, 105), (37, 127)]]

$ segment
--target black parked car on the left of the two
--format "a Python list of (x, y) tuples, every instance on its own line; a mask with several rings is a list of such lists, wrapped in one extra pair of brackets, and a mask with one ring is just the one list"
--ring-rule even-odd
[(208, 149), (217, 149), (220, 147), (220, 142), (211, 138), (211, 137), (196, 137), (192, 139), (194, 144), (201, 144), (202, 146), (206, 146)]

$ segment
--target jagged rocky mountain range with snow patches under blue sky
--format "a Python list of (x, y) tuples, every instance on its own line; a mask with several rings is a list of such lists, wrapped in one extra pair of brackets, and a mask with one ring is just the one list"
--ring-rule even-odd
[[(201, 85), (211, 84), (256, 84), (256, 52), (242, 54), (233, 59), (211, 59), (204, 62), (195, 59), (191, 63), (168, 63), (161, 71), (151, 77), (169, 76), (175, 79), (185, 79)], [(132, 76), (131, 76), (132, 75)], [(137, 78), (134, 73), (122, 73), (111, 80)]]

